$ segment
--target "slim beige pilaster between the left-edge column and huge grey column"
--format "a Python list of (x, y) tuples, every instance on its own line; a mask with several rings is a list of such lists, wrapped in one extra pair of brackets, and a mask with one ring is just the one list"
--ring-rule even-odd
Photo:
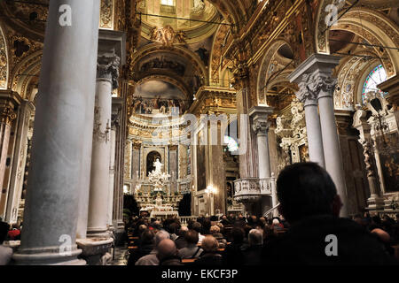
[(33, 103), (23, 100), (18, 113), (18, 127), (16, 131), (16, 142), (14, 157), (12, 158), (12, 176), (10, 192), (7, 200), (7, 211), (5, 221), (13, 224), (17, 222), (20, 196), (24, 181), (25, 165), (27, 163), (27, 132), (29, 130), (30, 118), (35, 111)]

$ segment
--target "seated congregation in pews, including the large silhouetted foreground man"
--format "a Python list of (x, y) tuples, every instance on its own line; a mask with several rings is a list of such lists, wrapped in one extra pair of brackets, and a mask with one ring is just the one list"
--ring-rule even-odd
[[(128, 265), (397, 264), (398, 217), (340, 218), (340, 195), (317, 164), (286, 167), (277, 191), (279, 217), (230, 214), (184, 226), (178, 218), (131, 218)], [(330, 234), (333, 256), (325, 253)]]

